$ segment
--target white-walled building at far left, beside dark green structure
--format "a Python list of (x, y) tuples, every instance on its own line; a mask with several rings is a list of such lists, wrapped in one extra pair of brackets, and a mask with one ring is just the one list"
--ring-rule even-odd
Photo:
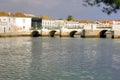
[(31, 28), (31, 18), (0, 16), (0, 33), (28, 31)]

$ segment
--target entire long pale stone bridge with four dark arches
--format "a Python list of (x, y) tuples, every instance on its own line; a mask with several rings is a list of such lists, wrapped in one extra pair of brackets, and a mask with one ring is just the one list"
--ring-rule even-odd
[(117, 38), (120, 37), (120, 31), (113, 30), (111, 27), (108, 28), (91, 28), (91, 29), (84, 29), (84, 28), (57, 28), (57, 29), (46, 29), (43, 28), (41, 30), (32, 30), (32, 36), (47, 36), (47, 37), (75, 37), (76, 35), (79, 37), (86, 37), (86, 38)]

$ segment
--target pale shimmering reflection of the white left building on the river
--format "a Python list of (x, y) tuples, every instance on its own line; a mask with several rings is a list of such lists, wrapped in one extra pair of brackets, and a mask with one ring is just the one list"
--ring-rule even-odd
[(0, 80), (29, 79), (31, 42), (28, 38), (0, 39)]

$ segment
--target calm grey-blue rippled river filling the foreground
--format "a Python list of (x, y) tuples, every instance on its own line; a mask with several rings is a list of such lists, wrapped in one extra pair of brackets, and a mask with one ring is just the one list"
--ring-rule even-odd
[(120, 40), (0, 38), (0, 80), (120, 80)]

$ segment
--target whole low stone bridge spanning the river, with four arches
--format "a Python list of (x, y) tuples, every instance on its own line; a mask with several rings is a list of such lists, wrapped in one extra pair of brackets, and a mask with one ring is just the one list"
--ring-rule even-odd
[(74, 37), (74, 35), (80, 35), (82, 38), (120, 38), (119, 30), (85, 30), (82, 31), (69, 31), (69, 30), (33, 30), (32, 36), (38, 37)]

